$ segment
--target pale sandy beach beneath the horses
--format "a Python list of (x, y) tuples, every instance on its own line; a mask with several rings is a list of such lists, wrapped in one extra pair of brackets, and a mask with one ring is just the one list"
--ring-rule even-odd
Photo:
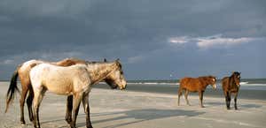
[[(25, 106), (27, 124), (20, 125), (20, 96), (4, 113), (5, 94), (9, 82), (0, 82), (0, 127), (31, 128)], [(223, 97), (205, 96), (206, 108), (199, 107), (199, 97), (189, 96), (192, 106), (176, 105), (176, 94), (156, 94), (93, 88), (90, 93), (90, 117), (94, 128), (263, 128), (266, 125), (266, 101), (239, 98), (239, 110), (225, 109)], [(66, 96), (47, 92), (40, 108), (43, 128), (69, 127), (65, 122)], [(85, 127), (80, 108), (77, 126)]]

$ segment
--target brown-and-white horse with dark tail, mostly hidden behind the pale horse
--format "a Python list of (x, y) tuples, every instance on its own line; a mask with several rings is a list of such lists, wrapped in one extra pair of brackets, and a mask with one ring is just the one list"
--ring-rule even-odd
[[(105, 61), (106, 61), (106, 59), (105, 59)], [(59, 66), (70, 66), (73, 64), (86, 64), (89, 62), (86, 62), (86, 61), (83, 61), (83, 60), (77, 59), (77, 58), (66, 58), (66, 59), (61, 60), (59, 62), (46, 62), (46, 61), (41, 61), (41, 60), (29, 60), (23, 64), (20, 64), (17, 67), (17, 69), (15, 70), (15, 72), (12, 74), (10, 86), (9, 86), (8, 92), (6, 94), (5, 112), (7, 112), (7, 109), (9, 108), (10, 103), (14, 99), (15, 91), (19, 91), (19, 89), (17, 87), (17, 79), (18, 79), (18, 77), (20, 77), (21, 88), (22, 88), (22, 93), (20, 95), (20, 123), (21, 124), (25, 124), (24, 103), (25, 103), (25, 99), (27, 96), (27, 92), (28, 92), (28, 96), (27, 96), (28, 115), (29, 115), (30, 121), (33, 121), (31, 104), (33, 102), (34, 95), (33, 95), (33, 90), (31, 87), (30, 79), (29, 79), (29, 72), (33, 67), (35, 67), (35, 65), (43, 64), (43, 63), (56, 64)], [(114, 81), (114, 79), (117, 79), (116, 76), (117, 75), (113, 72), (104, 80), (106, 81), (106, 83), (110, 87), (115, 88), (115, 87), (117, 87), (117, 84), (121, 84), (117, 80)], [(73, 99), (73, 96), (69, 95), (67, 97), (67, 100), (66, 100), (66, 122), (67, 123), (70, 123), (72, 120), (72, 118), (71, 118), (72, 117), (72, 99)]]

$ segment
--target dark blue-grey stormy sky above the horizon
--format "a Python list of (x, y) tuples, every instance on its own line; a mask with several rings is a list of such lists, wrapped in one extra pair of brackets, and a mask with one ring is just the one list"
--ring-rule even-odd
[(0, 0), (0, 79), (30, 59), (120, 58), (126, 79), (266, 78), (265, 0)]

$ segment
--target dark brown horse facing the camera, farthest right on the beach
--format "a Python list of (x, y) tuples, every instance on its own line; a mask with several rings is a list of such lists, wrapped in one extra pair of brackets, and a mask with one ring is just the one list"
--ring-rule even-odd
[(223, 94), (225, 96), (226, 108), (230, 109), (231, 104), (231, 94), (235, 95), (235, 109), (238, 109), (237, 98), (239, 94), (240, 87), (240, 72), (232, 72), (230, 77), (224, 77), (222, 79)]

